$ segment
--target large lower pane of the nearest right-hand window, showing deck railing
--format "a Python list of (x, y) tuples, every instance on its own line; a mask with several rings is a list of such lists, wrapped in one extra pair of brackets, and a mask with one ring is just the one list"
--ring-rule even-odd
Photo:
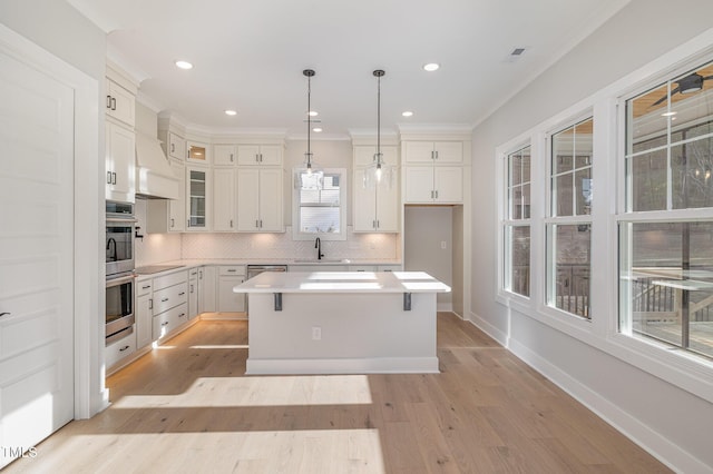
[[(713, 357), (713, 223), (635, 223), (622, 292), (632, 329)], [(625, 288), (626, 289), (626, 288)]]

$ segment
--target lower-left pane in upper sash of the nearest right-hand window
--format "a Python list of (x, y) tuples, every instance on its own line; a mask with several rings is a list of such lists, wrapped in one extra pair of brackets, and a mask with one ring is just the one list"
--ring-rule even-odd
[(634, 211), (666, 209), (666, 150), (628, 159)]

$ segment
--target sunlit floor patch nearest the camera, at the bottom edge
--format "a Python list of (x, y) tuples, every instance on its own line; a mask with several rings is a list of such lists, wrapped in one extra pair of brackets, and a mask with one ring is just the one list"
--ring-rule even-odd
[[(175, 455), (162, 456), (162, 446)], [(99, 457), (82, 455), (97, 448)], [(76, 453), (66, 472), (149, 472), (157, 462), (174, 473), (385, 472), (378, 429), (91, 434), (72, 436), (60, 451)], [(55, 465), (53, 454), (40, 448), (30, 462)]]

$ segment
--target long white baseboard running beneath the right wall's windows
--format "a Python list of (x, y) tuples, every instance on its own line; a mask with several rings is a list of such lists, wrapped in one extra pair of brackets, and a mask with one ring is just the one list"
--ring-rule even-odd
[(607, 398), (530, 350), (527, 346), (519, 344), (515, 339), (510, 339), (508, 348), (527, 365), (546, 376), (559, 388), (593, 411), (597, 416), (614, 426), (673, 471), (682, 473), (711, 472), (711, 466), (673, 444), (668, 438), (654, 432)]

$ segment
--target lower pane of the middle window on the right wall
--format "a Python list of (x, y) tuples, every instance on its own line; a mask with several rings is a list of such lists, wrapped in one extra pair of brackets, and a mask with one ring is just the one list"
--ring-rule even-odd
[(589, 318), (592, 226), (556, 225), (555, 292), (550, 305)]

